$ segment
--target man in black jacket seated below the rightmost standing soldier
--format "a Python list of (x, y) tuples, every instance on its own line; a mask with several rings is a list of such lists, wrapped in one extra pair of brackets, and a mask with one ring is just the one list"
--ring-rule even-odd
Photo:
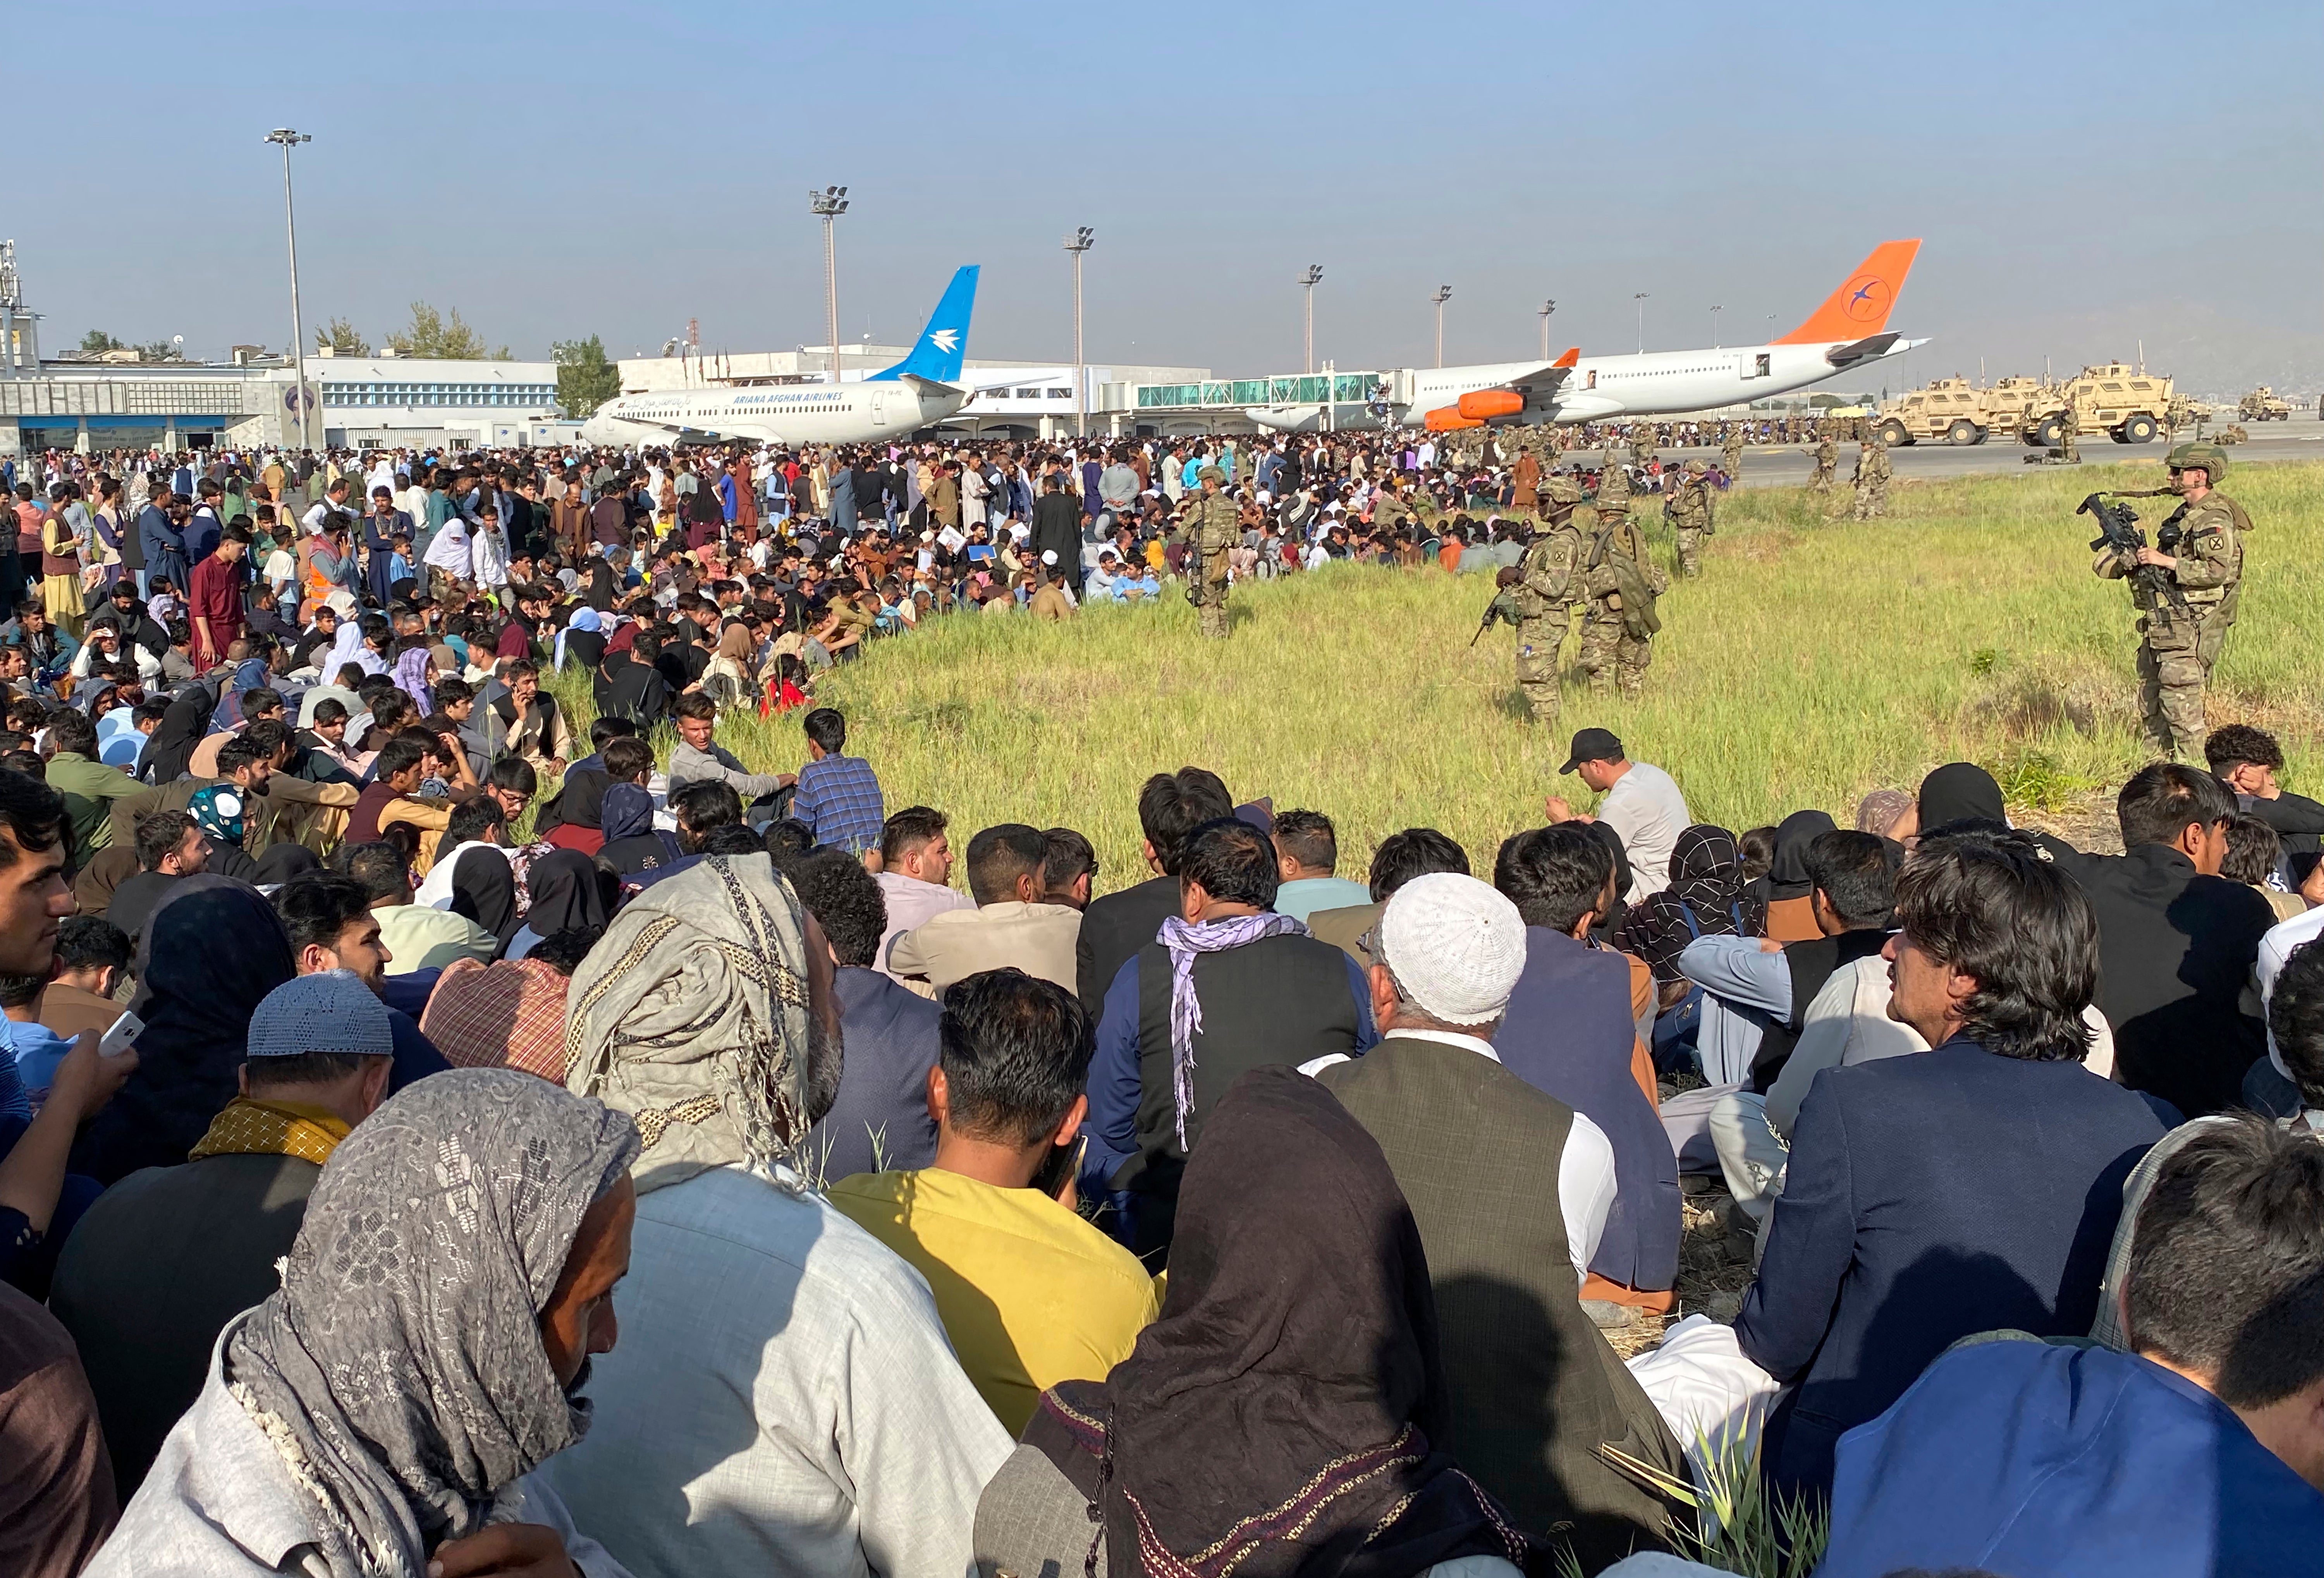
[(2219, 876), (2236, 797), (2201, 767), (2154, 762), (2115, 797), (2119, 855), (2036, 834), (2099, 916), (2099, 1011), (2115, 1032), (2115, 1078), (2185, 1118), (2236, 1106), (2264, 1055), (2243, 992), (2268, 902)]

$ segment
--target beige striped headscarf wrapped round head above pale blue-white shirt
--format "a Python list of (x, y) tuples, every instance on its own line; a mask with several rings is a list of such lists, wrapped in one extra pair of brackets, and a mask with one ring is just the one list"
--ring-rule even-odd
[[(630, 902), (565, 995), (565, 1088), (637, 1118), (637, 1190), (776, 1178), (816, 1113), (806, 918), (765, 855), (711, 855)], [(792, 1169), (795, 1171), (795, 1169)]]

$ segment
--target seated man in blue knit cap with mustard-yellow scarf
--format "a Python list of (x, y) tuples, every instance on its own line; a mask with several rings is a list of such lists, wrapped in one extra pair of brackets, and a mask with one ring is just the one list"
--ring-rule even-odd
[(230, 1318), (279, 1285), (323, 1162), (386, 1097), (388, 1009), (356, 976), (293, 976), (251, 1016), (242, 1095), (179, 1167), (98, 1197), (49, 1304), (81, 1346), (121, 1494), (202, 1392)]

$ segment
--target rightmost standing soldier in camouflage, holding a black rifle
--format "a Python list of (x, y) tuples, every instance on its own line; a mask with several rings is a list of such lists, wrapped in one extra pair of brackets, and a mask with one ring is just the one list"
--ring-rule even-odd
[(2164, 572), (2161, 583), (2131, 579), (2138, 704), (2147, 746), (2178, 760), (2203, 746), (2203, 681), (2233, 623), (2243, 535), (2236, 502), (2212, 493), (2212, 481), (2226, 476), (2226, 456), (2215, 444), (2180, 444), (2164, 465), (2180, 507), (2154, 544), (2138, 553), (2101, 548), (2092, 569), (2108, 581), (2131, 579), (2143, 565)]

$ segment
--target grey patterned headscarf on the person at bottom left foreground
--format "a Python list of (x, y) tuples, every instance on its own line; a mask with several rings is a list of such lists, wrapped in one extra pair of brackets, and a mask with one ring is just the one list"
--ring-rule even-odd
[(372, 1113), (316, 1181), (281, 1290), (225, 1346), (242, 1408), (321, 1504), (332, 1578), (421, 1578), (588, 1429), (539, 1315), (637, 1127), (514, 1069)]

